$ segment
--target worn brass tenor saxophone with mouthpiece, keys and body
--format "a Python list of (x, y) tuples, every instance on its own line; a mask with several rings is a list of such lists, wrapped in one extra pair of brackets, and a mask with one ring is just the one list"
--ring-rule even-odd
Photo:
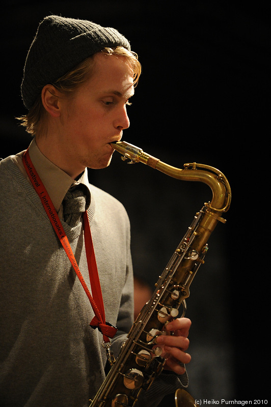
[[(111, 143), (129, 163), (142, 162), (170, 177), (184, 181), (199, 181), (212, 190), (211, 202), (204, 203), (182, 241), (172, 255), (166, 269), (159, 276), (155, 290), (134, 322), (120, 354), (115, 360), (110, 344), (105, 344), (111, 369), (90, 407), (130, 407), (136, 405), (142, 389), (148, 390), (162, 371), (165, 359), (156, 345), (158, 335), (165, 334), (165, 324), (177, 316), (184, 316), (189, 286), (208, 249), (207, 240), (216, 224), (229, 209), (231, 190), (225, 176), (217, 169), (196, 163), (184, 164), (184, 169), (172, 167), (125, 141)], [(182, 314), (179, 307), (182, 305)], [(175, 405), (196, 405), (183, 389), (175, 393)]]

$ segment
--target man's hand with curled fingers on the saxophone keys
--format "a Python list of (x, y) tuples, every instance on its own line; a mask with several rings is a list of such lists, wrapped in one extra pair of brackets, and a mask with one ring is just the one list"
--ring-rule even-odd
[(181, 363), (189, 363), (191, 356), (185, 351), (189, 345), (187, 338), (191, 321), (188, 318), (177, 318), (166, 325), (166, 331), (172, 334), (159, 335), (156, 343), (161, 346), (163, 353), (161, 356), (167, 359), (165, 369), (172, 370), (177, 374), (183, 374), (185, 368)]

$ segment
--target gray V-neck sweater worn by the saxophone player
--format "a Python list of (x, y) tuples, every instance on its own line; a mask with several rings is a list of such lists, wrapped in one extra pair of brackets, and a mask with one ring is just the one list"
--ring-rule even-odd
[[(0, 191), (0, 405), (88, 406), (105, 378), (106, 359), (102, 335), (89, 326), (89, 300), (11, 157), (0, 163)], [(118, 354), (133, 317), (129, 220), (120, 202), (94, 186), (88, 216)], [(90, 288), (82, 224), (63, 226)]]

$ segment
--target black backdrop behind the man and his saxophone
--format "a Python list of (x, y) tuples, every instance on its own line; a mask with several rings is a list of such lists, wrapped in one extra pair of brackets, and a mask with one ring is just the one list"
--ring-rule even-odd
[[(49, 14), (113, 26), (139, 54), (143, 73), (125, 140), (171, 165), (196, 161), (228, 178), (227, 223), (213, 232), (187, 301), (189, 391), (202, 400), (268, 399), (268, 8), (211, 0), (10, 1), (1, 21), (1, 157), (30, 142), (14, 118), (25, 113), (26, 53)], [(109, 168), (90, 171), (90, 181), (124, 203), (134, 273), (153, 287), (210, 190), (126, 165), (118, 153)]]

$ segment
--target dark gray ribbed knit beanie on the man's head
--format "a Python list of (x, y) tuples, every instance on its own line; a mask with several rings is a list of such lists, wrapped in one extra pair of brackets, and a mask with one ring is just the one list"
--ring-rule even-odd
[(21, 95), (30, 109), (43, 86), (53, 83), (104, 47), (130, 44), (115, 28), (87, 20), (51, 15), (40, 23), (26, 57)]

